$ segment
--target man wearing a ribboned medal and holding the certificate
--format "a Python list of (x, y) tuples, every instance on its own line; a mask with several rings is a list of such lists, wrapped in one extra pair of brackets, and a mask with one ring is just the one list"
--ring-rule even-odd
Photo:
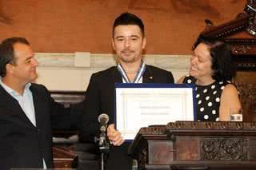
[(132, 158), (128, 156), (129, 144), (114, 128), (114, 84), (115, 83), (174, 83), (172, 73), (146, 65), (142, 51), (146, 45), (144, 25), (134, 14), (121, 14), (114, 21), (112, 45), (117, 53), (118, 65), (94, 73), (86, 90), (85, 112), (82, 119), (80, 137), (82, 141), (94, 142), (99, 134), (98, 116), (106, 113), (110, 117), (107, 136), (110, 153), (106, 160), (108, 170), (132, 168)]

